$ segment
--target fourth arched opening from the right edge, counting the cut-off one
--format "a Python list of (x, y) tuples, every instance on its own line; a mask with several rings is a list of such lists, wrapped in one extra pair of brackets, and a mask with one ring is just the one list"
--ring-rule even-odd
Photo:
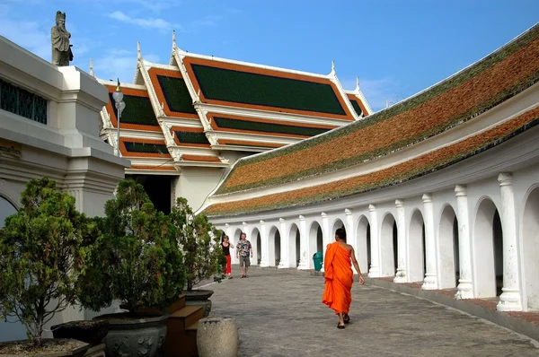
[(425, 222), (420, 210), (411, 215), (408, 231), (408, 280), (421, 282), (425, 278)]

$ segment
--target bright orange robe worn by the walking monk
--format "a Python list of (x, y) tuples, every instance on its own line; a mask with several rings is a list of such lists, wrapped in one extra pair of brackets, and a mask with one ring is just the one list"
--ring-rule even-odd
[(325, 289), (322, 302), (335, 310), (335, 314), (349, 313), (352, 302), (352, 283), (354, 272), (350, 253), (338, 242), (328, 244), (323, 263)]

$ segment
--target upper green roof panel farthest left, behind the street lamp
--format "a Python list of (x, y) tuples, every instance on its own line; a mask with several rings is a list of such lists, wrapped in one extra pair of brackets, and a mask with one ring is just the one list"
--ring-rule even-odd
[[(114, 115), (118, 118), (118, 111), (114, 105), (112, 99), (112, 93), (109, 93), (110, 102), (112, 103), (112, 109), (114, 109)], [(126, 109), (121, 112), (121, 118), (119, 125), (122, 124), (137, 124), (142, 126), (159, 126), (157, 119), (155, 118), (154, 109), (152, 109), (152, 103), (147, 97), (137, 97), (134, 95), (124, 94), (123, 100), (126, 103)]]

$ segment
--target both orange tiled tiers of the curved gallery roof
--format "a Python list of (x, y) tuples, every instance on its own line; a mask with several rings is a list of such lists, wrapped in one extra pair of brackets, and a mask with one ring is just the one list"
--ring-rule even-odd
[[(349, 196), (396, 185), (483, 152), (535, 126), (539, 110), (529, 110), (481, 134), (390, 168), (380, 167), (364, 175), (279, 194), (261, 194), (247, 200), (232, 198), (245, 191), (257, 196), (256, 192), (262, 188), (291, 182), (297, 187), (297, 182), (303, 179), (359, 168), (461, 126), (539, 81), (538, 57), (539, 25), (535, 25), (490, 56), (389, 109), (298, 144), (243, 158), (210, 196), (210, 201), (216, 204), (205, 212), (254, 213)], [(359, 103), (358, 106), (361, 109)], [(223, 203), (219, 203), (221, 197)]]

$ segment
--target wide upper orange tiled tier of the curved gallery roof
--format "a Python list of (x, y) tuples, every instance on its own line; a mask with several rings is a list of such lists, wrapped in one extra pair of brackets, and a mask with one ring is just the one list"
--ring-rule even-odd
[(539, 25), (445, 81), (326, 135), (238, 161), (216, 194), (269, 187), (402, 150), (539, 81)]

